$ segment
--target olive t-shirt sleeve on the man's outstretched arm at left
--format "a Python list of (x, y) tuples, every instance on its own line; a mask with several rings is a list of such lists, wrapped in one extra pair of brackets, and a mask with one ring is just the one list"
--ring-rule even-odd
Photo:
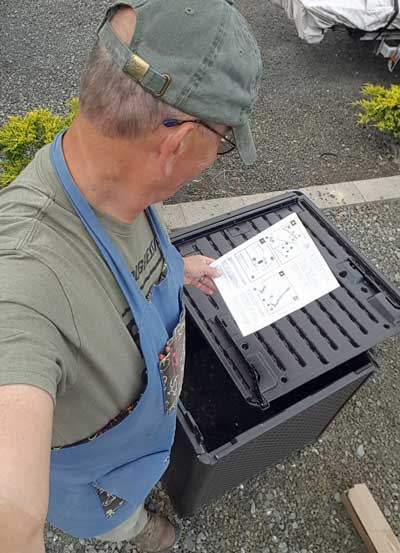
[(52, 271), (29, 257), (0, 256), (0, 385), (37, 386), (55, 404), (75, 380), (74, 336)]

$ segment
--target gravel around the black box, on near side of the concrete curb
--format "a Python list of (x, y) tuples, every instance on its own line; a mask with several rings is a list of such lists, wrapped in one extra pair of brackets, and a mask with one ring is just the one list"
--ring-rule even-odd
[[(329, 217), (400, 286), (400, 201), (329, 210)], [(322, 438), (283, 464), (181, 521), (178, 553), (361, 553), (340, 494), (366, 482), (400, 535), (400, 340), (375, 351), (381, 365)], [(157, 489), (153, 504), (173, 516)], [(127, 543), (75, 541), (49, 529), (48, 553), (129, 553)]]

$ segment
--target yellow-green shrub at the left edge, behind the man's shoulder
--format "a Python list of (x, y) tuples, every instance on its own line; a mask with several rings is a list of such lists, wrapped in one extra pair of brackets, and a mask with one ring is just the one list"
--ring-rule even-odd
[(53, 140), (62, 129), (71, 126), (78, 112), (78, 99), (68, 102), (65, 117), (47, 108), (29, 111), (24, 116), (11, 115), (0, 128), (0, 188), (7, 186), (33, 159), (35, 153)]

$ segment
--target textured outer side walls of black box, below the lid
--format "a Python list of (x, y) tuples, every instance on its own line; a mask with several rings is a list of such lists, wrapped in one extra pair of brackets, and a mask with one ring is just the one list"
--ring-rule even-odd
[[(342, 367), (337, 380), (327, 385), (321, 382), (320, 389), (315, 386), (310, 395), (282, 405), (282, 410), (272, 416), (267, 411), (261, 411), (262, 417), (244, 409), (241, 422), (249, 428), (226, 441), (220, 436), (220, 445), (214, 429), (208, 426), (201, 431), (181, 401), (171, 465), (163, 478), (177, 513), (191, 516), (199, 507), (314, 442), (374, 372), (368, 354), (362, 354), (354, 365), (358, 366), (356, 370), (349, 365)], [(224, 400), (229, 400), (226, 388), (221, 391), (220, 401)], [(224, 418), (219, 422), (222, 425)], [(218, 430), (221, 432), (221, 428)]]

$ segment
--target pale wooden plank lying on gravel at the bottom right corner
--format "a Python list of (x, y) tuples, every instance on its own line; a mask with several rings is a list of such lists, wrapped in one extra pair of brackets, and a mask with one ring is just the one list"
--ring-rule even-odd
[(399, 541), (365, 484), (345, 492), (342, 501), (368, 553), (400, 553)]

